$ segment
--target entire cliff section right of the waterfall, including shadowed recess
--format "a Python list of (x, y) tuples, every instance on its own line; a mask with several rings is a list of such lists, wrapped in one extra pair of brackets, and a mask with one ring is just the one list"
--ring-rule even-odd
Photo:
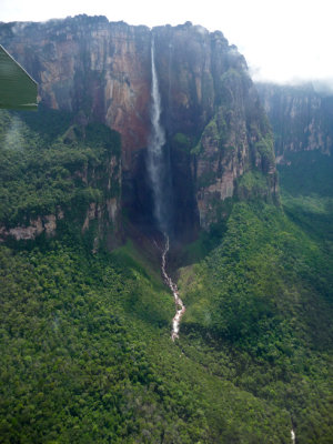
[(188, 22), (155, 28), (153, 36), (176, 190), (174, 224), (189, 233), (223, 216), (223, 201), (246, 171), (259, 169), (268, 194), (276, 193), (271, 129), (244, 58), (221, 32)]

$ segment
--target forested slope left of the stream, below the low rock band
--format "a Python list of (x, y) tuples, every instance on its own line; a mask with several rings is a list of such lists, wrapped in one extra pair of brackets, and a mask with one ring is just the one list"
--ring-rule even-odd
[(130, 245), (47, 246), (0, 249), (3, 443), (289, 442), (287, 412), (238, 387), (228, 351), (171, 341), (172, 300)]

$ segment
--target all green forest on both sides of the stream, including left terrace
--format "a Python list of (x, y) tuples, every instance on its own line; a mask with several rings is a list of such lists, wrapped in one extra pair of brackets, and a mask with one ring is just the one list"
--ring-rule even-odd
[[(28, 132), (1, 139), (2, 223), (67, 199), (80, 212), (87, 184), (72, 173), (117, 152), (115, 135), (93, 127), (88, 143), (61, 113), (44, 129), (2, 119), (12, 140), (13, 122)], [(229, 220), (184, 250), (175, 343), (158, 264), (131, 242), (92, 254), (73, 219), (54, 239), (0, 244), (0, 441), (275, 444), (293, 427), (297, 443), (332, 442), (330, 174), (300, 191), (297, 162), (281, 168), (282, 208), (230, 202)]]

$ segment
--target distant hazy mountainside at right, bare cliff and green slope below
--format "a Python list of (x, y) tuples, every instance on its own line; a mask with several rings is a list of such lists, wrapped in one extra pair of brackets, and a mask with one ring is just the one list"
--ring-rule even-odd
[[(312, 236), (332, 242), (333, 95), (311, 84), (258, 84), (274, 131), (285, 211)], [(329, 246), (330, 248), (330, 246)]]

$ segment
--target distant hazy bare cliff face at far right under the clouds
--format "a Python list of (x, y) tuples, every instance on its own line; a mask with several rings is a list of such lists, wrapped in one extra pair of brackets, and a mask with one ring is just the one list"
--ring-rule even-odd
[(285, 154), (301, 151), (332, 153), (333, 97), (315, 92), (311, 84), (280, 87), (256, 84), (270, 118), (279, 163)]

